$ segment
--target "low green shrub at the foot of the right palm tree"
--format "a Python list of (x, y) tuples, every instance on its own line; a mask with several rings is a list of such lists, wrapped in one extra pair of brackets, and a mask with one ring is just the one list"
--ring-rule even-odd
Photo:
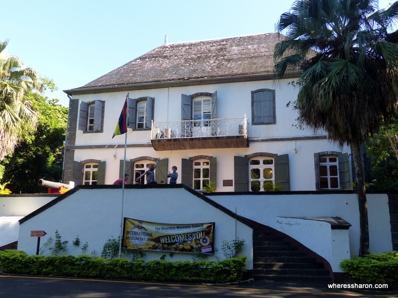
[(369, 254), (343, 260), (340, 267), (349, 278), (370, 284), (398, 284), (398, 252)]

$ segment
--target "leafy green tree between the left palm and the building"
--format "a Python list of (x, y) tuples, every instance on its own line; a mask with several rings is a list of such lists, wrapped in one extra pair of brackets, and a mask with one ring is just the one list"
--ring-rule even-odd
[(68, 108), (58, 99), (47, 99), (36, 92), (25, 93), (32, 109), (37, 111), (38, 124), (34, 133), (26, 133), (14, 151), (0, 162), (3, 167), (1, 181), (10, 181), (13, 193), (43, 193), (38, 186), (42, 178), (60, 182)]

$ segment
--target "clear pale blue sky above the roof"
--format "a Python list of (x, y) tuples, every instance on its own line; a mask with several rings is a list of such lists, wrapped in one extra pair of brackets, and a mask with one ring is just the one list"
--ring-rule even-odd
[[(57, 91), (80, 87), (162, 45), (275, 31), (294, 0), (0, 1), (0, 40)], [(387, 7), (391, 0), (380, 0)]]

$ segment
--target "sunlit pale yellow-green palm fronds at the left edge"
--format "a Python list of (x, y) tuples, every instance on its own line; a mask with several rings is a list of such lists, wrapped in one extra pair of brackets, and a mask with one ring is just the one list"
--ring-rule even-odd
[(0, 41), (0, 160), (11, 152), (23, 133), (35, 128), (37, 114), (23, 99), (27, 90), (43, 90), (37, 72), (23, 68), (23, 61), (8, 57), (8, 40)]

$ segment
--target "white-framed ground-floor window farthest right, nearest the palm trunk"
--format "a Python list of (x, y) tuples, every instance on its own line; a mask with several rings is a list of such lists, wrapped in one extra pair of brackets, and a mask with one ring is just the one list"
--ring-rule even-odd
[(339, 163), (334, 155), (319, 156), (319, 188), (339, 188)]

